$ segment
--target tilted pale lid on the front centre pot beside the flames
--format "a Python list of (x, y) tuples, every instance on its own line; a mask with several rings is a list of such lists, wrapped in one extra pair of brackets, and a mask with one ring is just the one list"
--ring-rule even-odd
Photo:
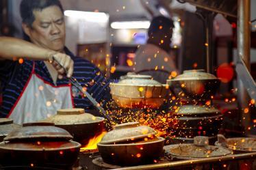
[(107, 132), (101, 139), (101, 144), (118, 143), (152, 137), (155, 130), (149, 126), (140, 126), (139, 122), (129, 122), (114, 126), (114, 130)]

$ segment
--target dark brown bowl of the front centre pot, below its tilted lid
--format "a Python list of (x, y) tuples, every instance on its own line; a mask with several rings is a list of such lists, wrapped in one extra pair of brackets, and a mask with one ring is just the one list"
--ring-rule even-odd
[(162, 155), (164, 138), (156, 141), (124, 144), (101, 144), (98, 149), (104, 162), (111, 165), (140, 165), (153, 163)]

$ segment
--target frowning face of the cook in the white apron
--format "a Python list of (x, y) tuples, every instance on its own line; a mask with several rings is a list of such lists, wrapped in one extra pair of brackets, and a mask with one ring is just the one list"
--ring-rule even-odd
[(63, 51), (66, 29), (62, 11), (56, 5), (34, 10), (35, 20), (28, 29), (31, 42), (53, 51)]

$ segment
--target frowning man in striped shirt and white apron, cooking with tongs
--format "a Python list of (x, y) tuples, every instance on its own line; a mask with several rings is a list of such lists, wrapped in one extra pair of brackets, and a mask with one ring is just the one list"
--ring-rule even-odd
[(23, 124), (45, 119), (57, 109), (92, 109), (88, 98), (70, 84), (71, 76), (104, 105), (110, 99), (109, 81), (99, 68), (64, 45), (60, 1), (23, 0), (20, 12), (30, 42), (0, 38), (0, 117)]

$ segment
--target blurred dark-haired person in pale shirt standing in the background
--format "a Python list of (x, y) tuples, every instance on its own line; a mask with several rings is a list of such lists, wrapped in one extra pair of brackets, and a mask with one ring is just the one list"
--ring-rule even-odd
[(148, 74), (156, 81), (166, 83), (170, 73), (177, 72), (175, 62), (169, 54), (173, 27), (170, 18), (153, 18), (148, 30), (147, 43), (136, 51), (133, 69), (137, 74)]

